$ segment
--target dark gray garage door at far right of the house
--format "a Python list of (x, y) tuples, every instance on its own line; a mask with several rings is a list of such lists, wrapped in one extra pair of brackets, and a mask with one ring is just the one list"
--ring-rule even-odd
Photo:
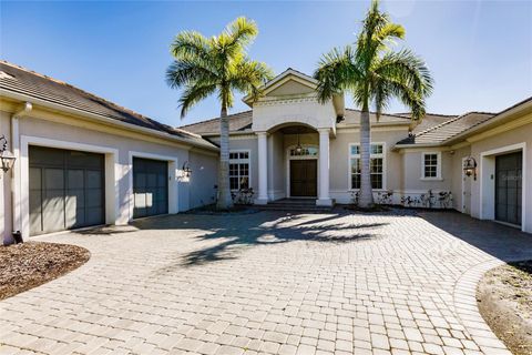
[(523, 154), (495, 158), (495, 220), (521, 225)]

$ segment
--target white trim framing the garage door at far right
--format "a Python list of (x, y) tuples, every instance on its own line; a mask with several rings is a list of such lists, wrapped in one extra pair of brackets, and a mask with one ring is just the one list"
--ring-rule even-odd
[[(522, 152), (521, 231), (526, 232), (526, 143), (518, 143), (480, 153), (480, 219), (495, 219), (495, 156)], [(530, 231), (529, 231), (530, 232)]]

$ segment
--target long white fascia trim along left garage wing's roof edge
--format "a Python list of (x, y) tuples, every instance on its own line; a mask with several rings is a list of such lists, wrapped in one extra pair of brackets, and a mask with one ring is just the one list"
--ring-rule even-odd
[[(39, 104), (41, 106), (45, 106), (45, 108), (49, 108), (49, 109), (52, 109), (52, 110), (63, 111), (63, 112), (68, 112), (68, 113), (75, 114), (75, 115), (81, 115), (81, 116), (84, 116), (84, 118), (88, 118), (88, 119), (91, 119), (91, 120), (94, 120), (94, 121), (104, 122), (106, 124), (111, 124), (111, 125), (115, 125), (115, 126), (126, 128), (127, 130), (131, 130), (131, 131), (145, 133), (147, 135), (162, 138), (162, 139), (165, 139), (165, 140), (168, 140), (168, 141), (174, 141), (177, 144), (183, 144), (184, 149), (192, 145), (192, 146), (198, 146), (198, 148), (206, 149), (206, 150), (218, 151), (218, 149), (216, 146), (209, 146), (207, 144), (195, 144), (195, 143), (182, 140), (182, 139), (180, 139), (175, 135), (172, 135), (170, 133), (155, 131), (155, 130), (152, 130), (152, 129), (149, 129), (149, 128), (143, 128), (143, 126), (126, 123), (126, 122), (121, 122), (121, 121), (117, 121), (117, 120), (106, 118), (104, 115), (86, 112), (86, 111), (79, 110), (79, 109), (75, 109), (75, 108), (70, 108), (70, 106), (66, 106), (66, 105), (63, 105), (63, 104), (45, 101), (45, 100), (42, 100), (42, 99), (37, 99), (37, 98), (25, 95), (25, 94), (14, 93), (14, 92), (11, 92), (11, 91), (4, 90), (4, 89), (0, 89), (0, 95), (4, 95), (7, 98), (11, 98), (11, 99), (14, 99), (14, 100), (21, 100), (21, 101), (27, 101), (27, 102), (30, 102), (30, 103), (35, 103), (35, 104)], [(191, 132), (187, 132), (187, 133), (192, 134), (192, 135), (196, 135), (197, 138), (201, 138), (201, 135), (197, 135), (195, 133), (191, 133)]]

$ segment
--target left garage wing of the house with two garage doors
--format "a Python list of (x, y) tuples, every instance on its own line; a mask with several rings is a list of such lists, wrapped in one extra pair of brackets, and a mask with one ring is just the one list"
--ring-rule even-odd
[(17, 159), (0, 172), (6, 243), (17, 231), (25, 239), (126, 224), (215, 201), (215, 144), (8, 62), (0, 62), (2, 135)]

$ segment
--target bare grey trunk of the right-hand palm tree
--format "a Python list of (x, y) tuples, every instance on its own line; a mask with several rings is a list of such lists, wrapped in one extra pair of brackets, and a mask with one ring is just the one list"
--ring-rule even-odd
[(370, 173), (371, 125), (369, 110), (365, 105), (360, 113), (360, 196), (358, 205), (362, 209), (374, 206)]

